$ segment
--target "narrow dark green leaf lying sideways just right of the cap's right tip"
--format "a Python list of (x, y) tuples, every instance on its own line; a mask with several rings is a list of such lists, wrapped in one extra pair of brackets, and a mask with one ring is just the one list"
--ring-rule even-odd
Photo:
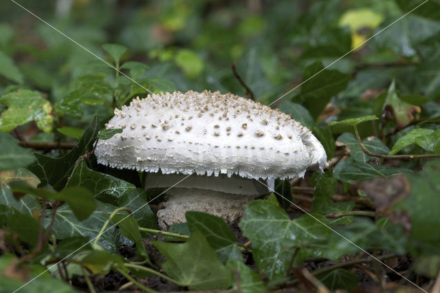
[(397, 174), (411, 173), (409, 169), (395, 168), (375, 164), (366, 164), (349, 158), (339, 162), (333, 170), (333, 176), (345, 182), (361, 182), (375, 177), (388, 178)]

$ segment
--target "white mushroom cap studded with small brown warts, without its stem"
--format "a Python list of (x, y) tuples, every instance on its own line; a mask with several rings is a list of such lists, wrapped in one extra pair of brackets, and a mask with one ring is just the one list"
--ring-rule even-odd
[(322, 144), (285, 113), (218, 91), (153, 94), (115, 109), (98, 163), (163, 174), (237, 174), (249, 179), (303, 177), (324, 168)]

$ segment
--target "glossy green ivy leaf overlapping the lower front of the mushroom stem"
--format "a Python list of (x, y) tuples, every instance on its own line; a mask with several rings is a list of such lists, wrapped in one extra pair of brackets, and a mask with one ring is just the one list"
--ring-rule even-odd
[(190, 232), (199, 230), (210, 246), (217, 251), (222, 263), (242, 259), (241, 251), (236, 246), (234, 232), (226, 224), (225, 219), (195, 211), (186, 212), (185, 217)]

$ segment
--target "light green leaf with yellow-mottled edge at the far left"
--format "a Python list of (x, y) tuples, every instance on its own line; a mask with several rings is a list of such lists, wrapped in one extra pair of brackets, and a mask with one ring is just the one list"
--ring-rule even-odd
[(8, 109), (0, 116), (0, 131), (9, 132), (15, 127), (32, 120), (39, 129), (45, 133), (52, 131), (54, 116), (50, 102), (41, 97), (38, 91), (19, 89), (5, 94), (0, 98), (0, 103)]

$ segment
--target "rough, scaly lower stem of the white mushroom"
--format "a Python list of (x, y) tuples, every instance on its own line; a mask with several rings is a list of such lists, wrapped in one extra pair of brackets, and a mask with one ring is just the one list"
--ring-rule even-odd
[(188, 210), (223, 217), (232, 223), (243, 215), (246, 204), (254, 199), (252, 195), (234, 195), (197, 188), (172, 188), (167, 195), (165, 208), (157, 212), (159, 228), (162, 230), (186, 221), (185, 213)]

